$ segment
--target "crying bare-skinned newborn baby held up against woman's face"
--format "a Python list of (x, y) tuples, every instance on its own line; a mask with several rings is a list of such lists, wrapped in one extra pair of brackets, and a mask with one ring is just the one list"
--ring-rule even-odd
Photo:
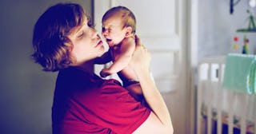
[(102, 69), (101, 77), (118, 73), (123, 86), (131, 93), (142, 94), (138, 78), (129, 62), (135, 49), (136, 20), (134, 14), (124, 6), (108, 10), (102, 18), (102, 36), (110, 46), (108, 52), (98, 58), (98, 64), (113, 61), (110, 67)]

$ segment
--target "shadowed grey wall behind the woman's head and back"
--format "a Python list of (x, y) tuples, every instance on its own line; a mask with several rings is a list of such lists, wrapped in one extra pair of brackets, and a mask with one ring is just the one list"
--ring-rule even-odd
[[(57, 73), (44, 73), (30, 59), (34, 23), (57, 2), (10, 1), (0, 4), (0, 133), (50, 134)], [(91, 1), (82, 3), (90, 13)]]

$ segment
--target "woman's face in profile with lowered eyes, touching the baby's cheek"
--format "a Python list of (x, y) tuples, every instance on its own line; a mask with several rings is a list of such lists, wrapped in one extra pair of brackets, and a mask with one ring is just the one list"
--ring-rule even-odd
[(98, 32), (88, 25), (87, 18), (82, 26), (74, 29), (68, 37), (73, 44), (71, 55), (76, 59), (74, 65), (81, 65), (95, 57), (102, 56), (105, 52)]

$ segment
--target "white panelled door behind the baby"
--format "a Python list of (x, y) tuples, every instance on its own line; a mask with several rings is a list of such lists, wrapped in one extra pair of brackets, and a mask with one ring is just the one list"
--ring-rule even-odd
[[(94, 0), (94, 24), (101, 33), (101, 19), (113, 6), (126, 6), (135, 15), (137, 34), (150, 50), (151, 71), (174, 124), (174, 133), (190, 133), (183, 0)], [(96, 66), (96, 71), (102, 66)]]

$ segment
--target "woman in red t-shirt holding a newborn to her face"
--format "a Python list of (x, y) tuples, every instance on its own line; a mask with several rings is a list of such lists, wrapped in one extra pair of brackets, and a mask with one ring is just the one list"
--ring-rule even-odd
[(130, 61), (150, 108), (114, 79), (94, 74), (104, 47), (82, 6), (51, 6), (34, 26), (34, 61), (59, 71), (52, 107), (53, 133), (172, 133), (170, 114), (150, 78), (150, 55), (135, 38)]

